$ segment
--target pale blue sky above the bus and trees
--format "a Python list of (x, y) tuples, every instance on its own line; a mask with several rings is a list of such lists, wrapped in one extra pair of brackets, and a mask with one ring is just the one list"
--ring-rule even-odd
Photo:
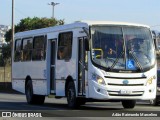
[[(52, 16), (65, 23), (78, 20), (106, 20), (147, 24), (160, 30), (160, 0), (15, 0), (15, 24), (26, 17)], [(0, 24), (11, 25), (12, 0), (0, 0)]]

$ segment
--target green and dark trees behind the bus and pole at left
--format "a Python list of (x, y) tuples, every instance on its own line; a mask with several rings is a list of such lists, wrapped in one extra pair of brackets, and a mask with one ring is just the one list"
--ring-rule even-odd
[[(63, 25), (63, 24), (64, 20), (57, 20), (53, 18), (28, 17), (20, 20), (20, 22), (17, 25), (15, 25), (15, 33), (27, 30), (46, 28), (56, 25)], [(10, 61), (11, 59), (11, 39), (12, 39), (12, 29), (7, 31), (5, 34), (5, 40), (7, 44), (1, 47), (0, 65), (2, 65), (2, 63), (5, 65), (6, 62)]]

